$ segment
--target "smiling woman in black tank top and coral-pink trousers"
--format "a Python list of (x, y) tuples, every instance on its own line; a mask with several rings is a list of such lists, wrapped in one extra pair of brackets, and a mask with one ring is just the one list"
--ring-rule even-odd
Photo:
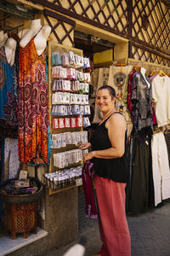
[(103, 246), (94, 256), (130, 256), (131, 242), (125, 213), (127, 124), (115, 109), (116, 93), (109, 86), (99, 88), (96, 103), (104, 119), (99, 124), (83, 160), (94, 161), (94, 183), (99, 206), (99, 231)]

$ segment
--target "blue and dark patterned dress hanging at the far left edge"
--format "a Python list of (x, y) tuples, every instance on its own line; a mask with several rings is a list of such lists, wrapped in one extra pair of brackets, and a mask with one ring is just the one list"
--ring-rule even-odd
[(4, 46), (0, 48), (0, 129), (17, 129), (17, 79), (14, 65), (8, 64)]

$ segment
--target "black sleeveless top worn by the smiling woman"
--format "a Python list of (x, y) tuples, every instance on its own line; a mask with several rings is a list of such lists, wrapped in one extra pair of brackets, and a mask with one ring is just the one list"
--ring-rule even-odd
[[(119, 112), (115, 112), (119, 113)], [(114, 114), (114, 113), (112, 113)], [(112, 115), (111, 114), (111, 115)], [(120, 113), (122, 114), (122, 113)], [(105, 123), (110, 119), (111, 115), (99, 125), (91, 136), (92, 150), (105, 150), (111, 148), (111, 142), (108, 136), (108, 130), (105, 128)], [(114, 132), (114, 131), (113, 131)], [(94, 158), (95, 174), (100, 177), (108, 177), (118, 183), (127, 183), (128, 168), (127, 168), (127, 131), (125, 131), (125, 152), (122, 157), (114, 159)]]

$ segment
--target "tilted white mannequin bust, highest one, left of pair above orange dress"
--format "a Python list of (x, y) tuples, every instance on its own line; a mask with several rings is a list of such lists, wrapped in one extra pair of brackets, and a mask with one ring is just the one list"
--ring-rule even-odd
[(26, 45), (30, 42), (31, 38), (37, 35), (37, 32), (41, 29), (41, 19), (31, 20), (31, 27), (25, 32), (24, 37), (20, 40), (20, 46), (25, 48)]

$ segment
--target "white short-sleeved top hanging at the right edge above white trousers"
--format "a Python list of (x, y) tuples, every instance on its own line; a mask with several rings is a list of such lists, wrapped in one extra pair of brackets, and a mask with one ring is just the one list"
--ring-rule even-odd
[(170, 124), (170, 78), (157, 75), (151, 84), (157, 125), (160, 127)]

